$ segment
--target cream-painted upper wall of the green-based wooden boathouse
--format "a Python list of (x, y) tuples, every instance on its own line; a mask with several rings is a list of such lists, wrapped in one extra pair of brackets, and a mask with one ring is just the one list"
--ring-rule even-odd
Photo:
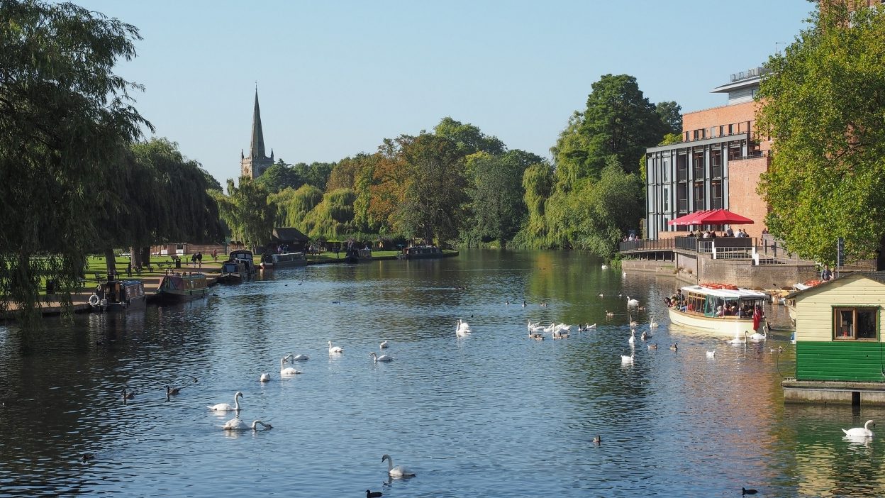
[[(866, 276), (845, 276), (796, 298), (796, 340), (829, 341), (833, 340), (833, 307), (885, 307), (885, 284)], [(879, 312), (880, 331), (885, 331), (883, 325), (885, 309)]]

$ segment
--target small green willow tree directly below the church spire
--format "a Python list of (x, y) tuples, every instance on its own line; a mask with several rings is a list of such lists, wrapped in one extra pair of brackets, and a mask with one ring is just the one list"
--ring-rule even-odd
[(263, 186), (248, 176), (241, 176), (239, 185), (228, 179), (227, 196), (217, 194), (216, 200), (234, 240), (253, 249), (270, 241), (275, 213)]

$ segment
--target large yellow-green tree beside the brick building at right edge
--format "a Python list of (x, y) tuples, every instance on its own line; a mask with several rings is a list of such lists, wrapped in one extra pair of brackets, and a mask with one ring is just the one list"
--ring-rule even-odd
[(761, 82), (758, 133), (773, 154), (759, 193), (789, 251), (835, 262), (877, 253), (885, 269), (885, 12), (831, 3)]

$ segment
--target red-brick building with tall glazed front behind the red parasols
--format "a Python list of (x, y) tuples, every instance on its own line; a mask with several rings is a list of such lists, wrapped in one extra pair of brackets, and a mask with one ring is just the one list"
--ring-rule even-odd
[(646, 150), (646, 233), (673, 237), (688, 227), (667, 224), (702, 209), (726, 208), (756, 222), (745, 230), (760, 237), (767, 206), (756, 193), (769, 165), (771, 142), (754, 136), (762, 67), (732, 74), (715, 89), (728, 104), (682, 116), (682, 142)]

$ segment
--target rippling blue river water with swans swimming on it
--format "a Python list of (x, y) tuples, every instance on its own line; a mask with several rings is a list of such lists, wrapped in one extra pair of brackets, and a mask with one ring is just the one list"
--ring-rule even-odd
[[(671, 330), (672, 279), (480, 250), (263, 278), (40, 333), (0, 325), (0, 496), (885, 494), (881, 442), (840, 431), (885, 410), (785, 406), (789, 332), (727, 346)], [(627, 296), (647, 308), (640, 332), (660, 323), (631, 366)], [(527, 320), (597, 328), (536, 341)], [(395, 360), (373, 364), (381, 340)], [(310, 360), (281, 378), (289, 353)], [(167, 401), (165, 385), (181, 393)], [(242, 420), (273, 429), (220, 428), (233, 412), (206, 406), (237, 391)], [(383, 454), (417, 476), (389, 481)]]

